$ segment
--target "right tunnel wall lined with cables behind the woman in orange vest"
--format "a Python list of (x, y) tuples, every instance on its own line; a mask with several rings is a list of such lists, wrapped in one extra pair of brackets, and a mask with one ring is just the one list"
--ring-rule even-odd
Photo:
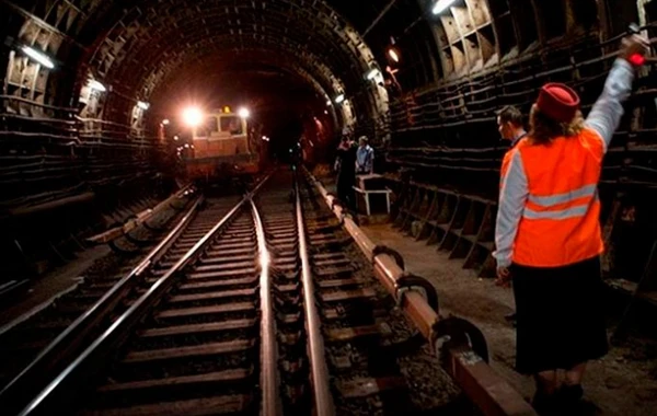
[[(397, 73), (402, 96), (392, 103), (388, 155), (418, 180), (491, 197), (508, 148), (499, 140), (496, 112), (516, 105), (528, 115), (542, 84), (566, 82), (580, 94), (587, 114), (602, 91), (619, 36), (630, 22), (648, 25), (655, 36), (657, 19), (654, 1), (457, 4), (433, 16), (429, 27), (418, 24), (400, 39), (407, 61)], [(438, 50), (415, 42), (427, 34)], [(603, 184), (611, 187), (650, 187), (657, 180), (654, 153), (646, 153), (657, 126), (654, 71), (637, 78), (606, 161)]]

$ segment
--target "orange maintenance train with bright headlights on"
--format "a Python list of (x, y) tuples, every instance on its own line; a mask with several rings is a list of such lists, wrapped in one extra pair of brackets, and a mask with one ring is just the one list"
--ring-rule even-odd
[(180, 153), (188, 180), (209, 182), (261, 171), (263, 139), (260, 129), (247, 123), (247, 113), (242, 112), (224, 107), (198, 116), (191, 143)]

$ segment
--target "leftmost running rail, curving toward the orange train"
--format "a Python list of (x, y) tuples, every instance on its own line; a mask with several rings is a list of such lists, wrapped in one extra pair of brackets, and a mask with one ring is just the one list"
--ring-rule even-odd
[(155, 264), (175, 242), (177, 236), (194, 218), (201, 200), (201, 196), (197, 197), (192, 208), (189, 208), (174, 229), (131, 271), (116, 282), (87, 312), (64, 330), (23, 371), (0, 391), (0, 408), (18, 411), (19, 406), (24, 406), (24, 402), (28, 400), (28, 395), (34, 393), (35, 389), (44, 386), (46, 374), (56, 368), (61, 368), (64, 363), (68, 362), (70, 355), (74, 354), (81, 347), (84, 337), (112, 313), (116, 304), (137, 284), (137, 278), (150, 265)]

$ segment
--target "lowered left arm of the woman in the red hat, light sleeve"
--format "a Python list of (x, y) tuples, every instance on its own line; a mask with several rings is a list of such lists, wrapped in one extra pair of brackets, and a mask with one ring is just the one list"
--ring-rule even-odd
[(517, 149), (511, 150), (505, 155), (502, 164), (499, 204), (495, 223), (496, 250), (493, 253), (498, 268), (511, 264), (514, 242), (528, 195), (529, 188), (520, 152)]

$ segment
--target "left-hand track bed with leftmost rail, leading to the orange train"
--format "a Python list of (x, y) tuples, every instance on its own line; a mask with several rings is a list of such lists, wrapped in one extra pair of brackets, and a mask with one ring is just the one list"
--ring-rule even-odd
[[(157, 232), (145, 230), (140, 233), (141, 240), (124, 243), (124, 246), (138, 249), (139, 253), (150, 250), (146, 255), (114, 256), (119, 264), (115, 273), (103, 273), (111, 267), (105, 265), (73, 290), (0, 336), (0, 353), (5, 358), (0, 366), (0, 403), (19, 403), (44, 380), (44, 371), (62, 369), (68, 363), (66, 355), (82, 347), (84, 337), (89, 338), (94, 332), (97, 335), (94, 330), (107, 326), (114, 316), (125, 311), (136, 293), (148, 287), (149, 279), (175, 263), (189, 249), (189, 243), (209, 230), (216, 218), (232, 208), (238, 198), (204, 200), (205, 209), (198, 215), (201, 200), (185, 199), (183, 205), (191, 204), (192, 208), (180, 215), (177, 226), (164, 240), (149, 242), (143, 238), (153, 239)], [(157, 223), (157, 219), (153, 222)], [(143, 273), (146, 265), (152, 265), (148, 274)]]

